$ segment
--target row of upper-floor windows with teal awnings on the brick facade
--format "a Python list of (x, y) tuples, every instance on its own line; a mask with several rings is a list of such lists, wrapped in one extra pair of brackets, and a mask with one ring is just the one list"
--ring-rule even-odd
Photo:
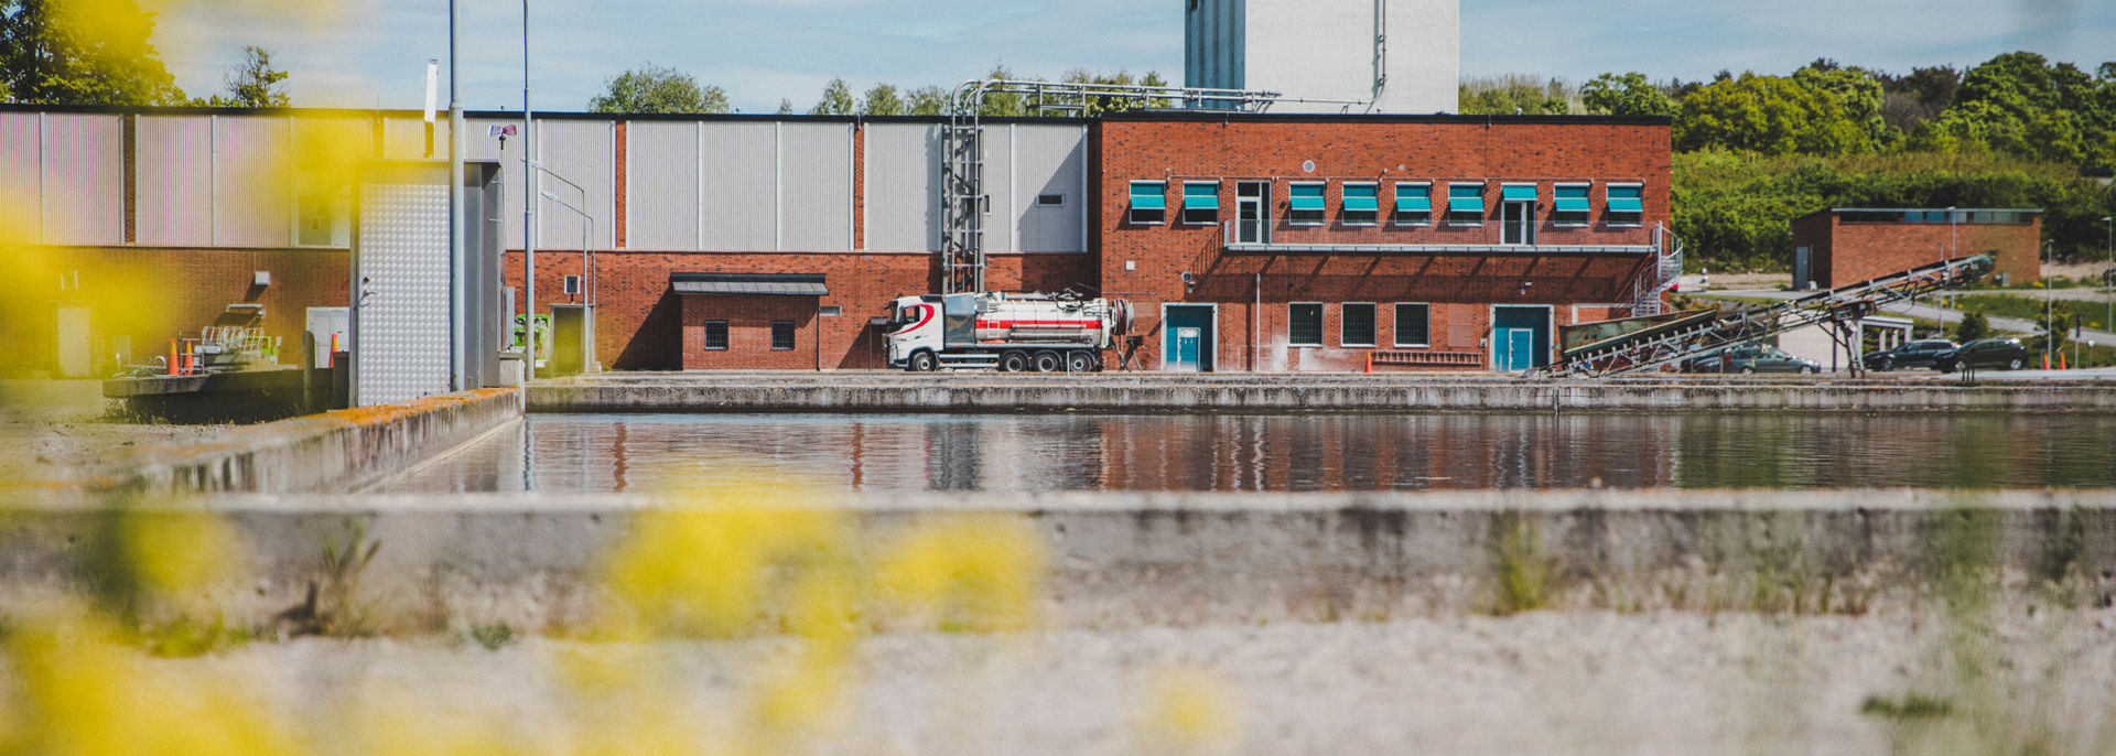
[[(1394, 205), (1390, 224), (1430, 227), (1433, 224), (1433, 182), (1394, 182)], [(1447, 182), (1447, 203), (1441, 208), (1452, 227), (1481, 227), (1485, 182)], [(1325, 199), (1327, 182), (1287, 184), (1287, 222), (1295, 227), (1320, 227), (1329, 212)], [(1382, 218), (1382, 182), (1342, 182), (1337, 214), (1344, 224), (1373, 227)], [(1500, 184), (1500, 203), (1540, 203), (1536, 184)], [(1562, 182), (1551, 186), (1551, 224), (1587, 227), (1593, 216), (1593, 182)], [(1644, 224), (1646, 203), (1642, 184), (1602, 184), (1602, 208), (1612, 227)], [(1219, 222), (1219, 182), (1183, 182), (1183, 222)], [(1134, 224), (1160, 224), (1168, 220), (1168, 182), (1132, 182)]]

